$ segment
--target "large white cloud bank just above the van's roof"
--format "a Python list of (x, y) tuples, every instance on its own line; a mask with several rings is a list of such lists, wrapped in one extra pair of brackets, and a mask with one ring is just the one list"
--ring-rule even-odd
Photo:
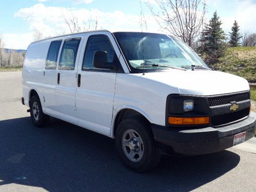
[[(11, 44), (14, 49), (26, 49), (33, 39), (33, 31), (38, 30), (44, 36), (56, 36), (57, 34), (70, 33), (64, 17), (71, 18), (72, 15), (78, 18), (79, 23), (87, 21), (90, 18), (97, 19), (98, 29), (110, 31), (141, 31), (140, 15), (125, 14), (121, 11), (103, 12), (97, 9), (86, 8), (65, 8), (65, 7), (47, 7), (44, 4), (36, 4), (29, 8), (20, 9), (14, 14), (15, 17), (23, 18), (29, 25), (30, 36), (23, 38), (23, 44), (20, 42)], [(147, 28), (150, 31), (158, 32), (159, 27), (151, 15), (145, 15)], [(146, 31), (143, 28), (143, 31)], [(19, 38), (17, 35), (16, 39)]]

